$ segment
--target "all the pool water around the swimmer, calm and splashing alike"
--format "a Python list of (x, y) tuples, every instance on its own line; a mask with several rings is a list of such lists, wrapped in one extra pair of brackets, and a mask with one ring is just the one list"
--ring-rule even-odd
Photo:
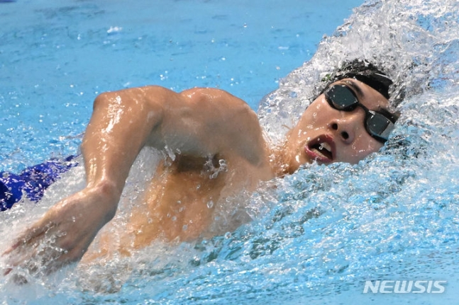
[[(136, 258), (69, 268), (25, 287), (0, 280), (1, 301), (457, 304), (459, 4), (360, 4), (1, 4), (1, 169), (77, 151), (96, 93), (124, 86), (218, 86), (254, 109), (261, 100), (260, 120), (273, 141), (342, 60), (380, 60), (407, 93), (380, 153), (355, 166), (304, 166), (263, 185), (243, 202), (254, 221), (238, 230), (178, 247), (155, 244)], [(144, 151), (134, 165), (121, 224), (154, 163)], [(31, 214), (81, 188), (83, 176), (76, 168), (40, 205), (2, 213), (0, 231), (21, 229)], [(366, 280), (447, 284), (443, 294), (363, 294)]]

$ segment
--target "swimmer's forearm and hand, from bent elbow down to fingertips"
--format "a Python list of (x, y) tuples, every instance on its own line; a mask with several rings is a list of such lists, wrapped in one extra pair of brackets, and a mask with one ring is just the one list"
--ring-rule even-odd
[[(170, 94), (159, 88), (155, 94), (155, 103), (148, 102), (143, 88), (101, 93), (94, 100), (82, 141), (87, 185), (57, 202), (16, 238), (3, 253), (9, 255), (11, 267), (38, 259), (45, 262), (45, 270), (55, 270), (82, 258), (97, 232), (114, 217), (132, 163), (160, 125), (160, 105)], [(43, 246), (40, 252), (34, 246), (38, 244)], [(43, 259), (50, 255), (54, 259)]]

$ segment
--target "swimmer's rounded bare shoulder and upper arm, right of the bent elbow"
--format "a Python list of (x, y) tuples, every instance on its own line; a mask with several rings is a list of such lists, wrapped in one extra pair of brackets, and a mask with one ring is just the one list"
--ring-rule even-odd
[(156, 94), (148, 95), (148, 103), (162, 103), (162, 120), (147, 144), (195, 156), (231, 153), (253, 165), (265, 160), (258, 116), (240, 98), (216, 88), (170, 91), (166, 95), (168, 98), (162, 100)]

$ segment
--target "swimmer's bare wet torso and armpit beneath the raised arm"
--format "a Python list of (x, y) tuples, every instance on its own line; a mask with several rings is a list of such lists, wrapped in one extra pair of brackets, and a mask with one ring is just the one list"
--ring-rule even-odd
[[(224, 233), (209, 232), (216, 207), (233, 205), (238, 194), (254, 190), (260, 180), (272, 178), (266, 144), (262, 140), (255, 113), (248, 110), (242, 101), (228, 101), (228, 98), (234, 97), (226, 96), (226, 93), (221, 100), (209, 101), (207, 90), (214, 91), (192, 89), (185, 93), (194, 99), (192, 103), (201, 104), (197, 105), (200, 110), (196, 109), (204, 114), (209, 111), (206, 107), (211, 103), (221, 103), (222, 111), (230, 113), (211, 114), (211, 120), (207, 120), (206, 125), (201, 125), (206, 120), (199, 117), (199, 114), (196, 119), (198, 125), (194, 122), (194, 108), (182, 109), (179, 117), (189, 119), (175, 121), (175, 126), (169, 128), (180, 131), (188, 129), (189, 132), (203, 136), (201, 142), (194, 137), (193, 144), (186, 145), (187, 148), (192, 147), (185, 151), (187, 154), (182, 153), (187, 134), (182, 132), (183, 135), (179, 134), (179, 137), (168, 142), (157, 143), (155, 139), (164, 137), (155, 134), (160, 130), (153, 132), (150, 146), (167, 146), (169, 151), (175, 153), (174, 160), (168, 157), (159, 164), (145, 192), (145, 199), (133, 207), (128, 226), (108, 224), (99, 234), (99, 241), (89, 248), (83, 260), (92, 260), (114, 251), (131, 255), (132, 251), (158, 239), (191, 241), (199, 236)], [(215, 98), (215, 94), (212, 98)], [(230, 103), (229, 106), (233, 104), (233, 107), (225, 103)], [(213, 107), (211, 105), (209, 109)], [(211, 147), (208, 143), (216, 146)], [(223, 227), (236, 229), (238, 225), (226, 223)]]

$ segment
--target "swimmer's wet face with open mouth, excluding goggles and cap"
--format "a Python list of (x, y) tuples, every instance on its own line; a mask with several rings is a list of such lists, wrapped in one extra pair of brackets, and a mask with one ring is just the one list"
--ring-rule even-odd
[[(369, 110), (389, 108), (389, 101), (375, 89), (356, 79), (342, 79), (331, 84), (345, 85)], [(321, 94), (304, 111), (298, 124), (287, 134), (289, 165), (296, 170), (303, 163), (357, 163), (378, 151), (382, 142), (365, 129), (365, 110), (336, 110)]]

